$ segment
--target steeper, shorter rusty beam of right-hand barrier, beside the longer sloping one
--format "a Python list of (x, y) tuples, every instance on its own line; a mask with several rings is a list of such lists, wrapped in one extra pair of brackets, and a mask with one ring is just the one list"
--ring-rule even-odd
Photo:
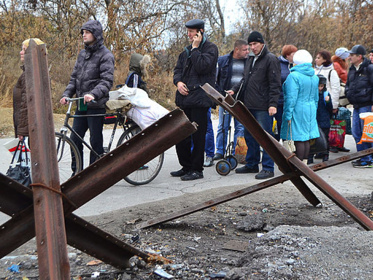
[[(267, 154), (277, 164), (282, 173), (286, 174), (295, 171), (294, 167), (288, 163), (286, 157), (283, 156), (281, 151), (272, 145), (272, 142), (273, 140), (275, 141), (275, 139), (262, 129), (260, 124), (255, 120), (254, 116), (242, 103), (236, 102), (229, 94), (227, 94), (227, 96), (224, 98), (215, 88), (211, 87), (207, 83), (204, 84), (202, 88), (214, 102), (229, 111), (232, 116), (237, 118), (237, 120), (245, 126), (254, 139), (260, 143)], [(302, 178), (294, 177), (290, 180), (299, 190), (299, 192), (303, 194), (305, 199), (307, 199), (307, 201), (313, 206), (317, 206), (321, 203), (316, 195), (308, 188)]]

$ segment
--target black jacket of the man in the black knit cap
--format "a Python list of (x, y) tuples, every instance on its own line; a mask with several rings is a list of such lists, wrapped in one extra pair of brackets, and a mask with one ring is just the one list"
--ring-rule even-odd
[(281, 89), (280, 62), (267, 46), (263, 47), (253, 67), (254, 57), (252, 53), (249, 55), (244, 77), (232, 90), (238, 93), (237, 99), (248, 109), (267, 111), (271, 106), (277, 108)]

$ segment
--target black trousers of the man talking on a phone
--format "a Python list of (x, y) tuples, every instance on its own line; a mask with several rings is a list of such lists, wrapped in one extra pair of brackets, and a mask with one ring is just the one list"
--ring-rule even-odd
[[(207, 131), (208, 108), (185, 108), (184, 113), (190, 122), (197, 123), (197, 131), (176, 144), (176, 154), (185, 171), (203, 171), (204, 142)], [(193, 141), (193, 150), (191, 150)]]

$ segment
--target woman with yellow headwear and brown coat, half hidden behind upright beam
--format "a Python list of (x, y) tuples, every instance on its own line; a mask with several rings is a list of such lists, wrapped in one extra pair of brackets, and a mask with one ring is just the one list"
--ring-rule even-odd
[[(22, 42), (22, 49), (19, 52), (21, 57), (22, 74), (19, 76), (17, 84), (13, 90), (13, 124), (15, 137), (21, 141), (25, 136), (29, 136), (29, 119), (27, 116), (27, 98), (26, 98), (26, 79), (25, 67), (23, 65), (25, 59), (24, 54), (29, 46), (31, 39)], [(33, 38), (37, 45), (42, 45), (44, 42), (38, 38)]]

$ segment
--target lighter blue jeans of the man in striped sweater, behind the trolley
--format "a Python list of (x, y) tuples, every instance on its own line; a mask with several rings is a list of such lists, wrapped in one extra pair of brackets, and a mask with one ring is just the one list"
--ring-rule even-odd
[[(224, 108), (219, 107), (218, 134), (216, 135), (216, 152), (223, 156), (225, 155), (225, 149), (226, 149), (227, 141), (228, 141), (228, 127), (232, 119), (232, 116), (230, 114), (227, 114), (228, 112), (225, 111), (226, 114), (224, 114), (224, 123), (223, 123), (224, 111), (225, 111)], [(233, 119), (235, 122), (235, 135), (233, 137), (233, 155), (234, 155), (236, 144), (237, 144), (237, 137), (243, 136), (243, 130), (245, 128), (235, 118)]]

